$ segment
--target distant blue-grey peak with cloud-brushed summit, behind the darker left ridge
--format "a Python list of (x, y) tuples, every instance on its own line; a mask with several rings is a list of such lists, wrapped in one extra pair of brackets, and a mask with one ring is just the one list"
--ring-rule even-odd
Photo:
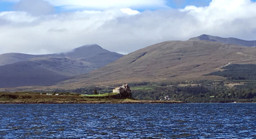
[(0, 66), (6, 64), (12, 64), (19, 61), (27, 61), (31, 58), (42, 58), (42, 57), (71, 57), (80, 58), (82, 61), (93, 62), (99, 68), (106, 63), (111, 63), (116, 61), (118, 58), (122, 57), (122, 54), (110, 52), (103, 49), (97, 44), (84, 45), (73, 49), (67, 53), (53, 53), (45, 55), (29, 55), (23, 53), (5, 53), (0, 55)]

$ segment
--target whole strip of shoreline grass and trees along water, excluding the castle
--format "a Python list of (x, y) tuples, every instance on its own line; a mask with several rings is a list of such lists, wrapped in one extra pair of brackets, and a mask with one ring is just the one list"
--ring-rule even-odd
[[(140, 82), (129, 83), (129, 86), (133, 98), (120, 98), (118, 93), (112, 93), (112, 87), (85, 86), (52, 92), (0, 93), (0, 103), (143, 103), (146, 100), (150, 103), (161, 103), (160, 100), (162, 103), (256, 102), (256, 80)], [(95, 90), (98, 94), (94, 93)]]

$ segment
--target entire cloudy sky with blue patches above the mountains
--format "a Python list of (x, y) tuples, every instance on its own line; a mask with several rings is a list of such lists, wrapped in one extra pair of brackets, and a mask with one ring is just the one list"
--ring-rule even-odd
[(256, 40), (256, 0), (0, 0), (0, 54), (128, 54), (201, 34)]

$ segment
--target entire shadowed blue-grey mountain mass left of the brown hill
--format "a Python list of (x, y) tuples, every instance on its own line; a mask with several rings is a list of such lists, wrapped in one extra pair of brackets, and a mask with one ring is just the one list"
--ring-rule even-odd
[(122, 56), (99, 45), (84, 45), (67, 53), (47, 55), (2, 54), (0, 88), (54, 85), (72, 76), (89, 73)]

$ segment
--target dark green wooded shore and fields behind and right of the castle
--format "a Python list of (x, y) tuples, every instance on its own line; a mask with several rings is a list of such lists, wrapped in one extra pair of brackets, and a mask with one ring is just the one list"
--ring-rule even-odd
[[(170, 100), (185, 103), (256, 102), (256, 81), (254, 80), (142, 82), (129, 83), (129, 85), (132, 97), (137, 100), (165, 100), (165, 96), (169, 96)], [(92, 94), (95, 88), (100, 93), (112, 91), (111, 87), (103, 86), (87, 86), (69, 91)]]

